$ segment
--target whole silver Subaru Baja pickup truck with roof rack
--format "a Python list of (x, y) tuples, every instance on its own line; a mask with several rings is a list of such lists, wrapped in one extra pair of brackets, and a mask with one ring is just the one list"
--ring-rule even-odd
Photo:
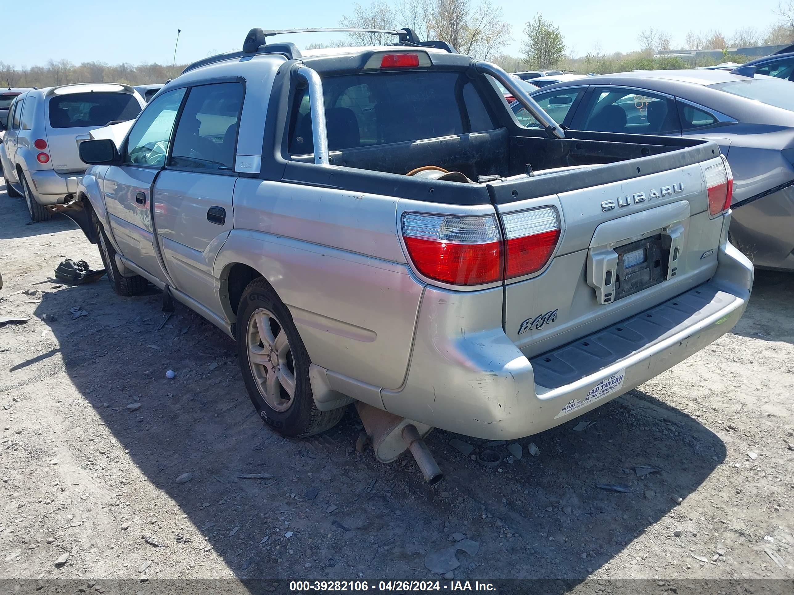
[(378, 459), (410, 447), (434, 482), (431, 428), (543, 432), (742, 316), (753, 268), (715, 143), (563, 130), (410, 29), (306, 52), (277, 33), (187, 67), (118, 147), (80, 144), (94, 167), (55, 207), (118, 294), (151, 282), (237, 341), (276, 431), (355, 402)]

